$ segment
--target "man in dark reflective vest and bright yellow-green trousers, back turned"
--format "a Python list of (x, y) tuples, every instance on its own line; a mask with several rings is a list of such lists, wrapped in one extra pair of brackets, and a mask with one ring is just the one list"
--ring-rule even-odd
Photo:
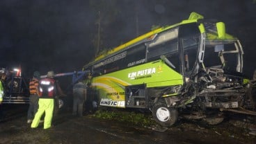
[(45, 112), (44, 129), (51, 127), (51, 119), (54, 113), (54, 97), (56, 96), (56, 82), (54, 80), (54, 71), (47, 73), (47, 78), (42, 78), (39, 81), (39, 109), (35, 114), (35, 118), (31, 124), (31, 128), (38, 127), (40, 118)]

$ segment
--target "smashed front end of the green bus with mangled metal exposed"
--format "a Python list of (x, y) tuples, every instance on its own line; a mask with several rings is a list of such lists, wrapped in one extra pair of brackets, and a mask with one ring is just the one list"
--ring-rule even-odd
[[(250, 105), (252, 102), (246, 96), (247, 79), (242, 74), (243, 49), (239, 39), (225, 33), (223, 22), (198, 19), (197, 24), (198, 37), (193, 32), (189, 32), (190, 35), (189, 28), (179, 27), (184, 84), (176, 97), (164, 98), (168, 109), (179, 109), (185, 118), (203, 119), (210, 125), (223, 121), (223, 111), (255, 115), (253, 111), (240, 109), (255, 106)], [(177, 116), (172, 120), (171, 111), (166, 110), (164, 107), (156, 109), (159, 111), (156, 117), (160, 118), (159, 123), (170, 126)], [(168, 117), (170, 123), (165, 123)]]

